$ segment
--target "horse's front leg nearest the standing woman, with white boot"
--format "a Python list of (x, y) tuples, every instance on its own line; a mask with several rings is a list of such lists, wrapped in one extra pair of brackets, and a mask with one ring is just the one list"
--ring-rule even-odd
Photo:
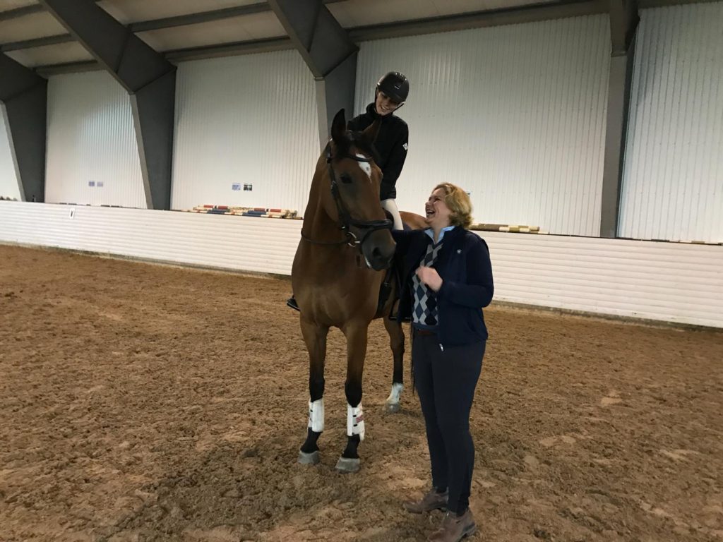
[(361, 408), (361, 379), (367, 356), (369, 322), (354, 322), (343, 327), (346, 335), (346, 448), (336, 463), (336, 470), (355, 473), (359, 470), (359, 442), (364, 440), (364, 410)]

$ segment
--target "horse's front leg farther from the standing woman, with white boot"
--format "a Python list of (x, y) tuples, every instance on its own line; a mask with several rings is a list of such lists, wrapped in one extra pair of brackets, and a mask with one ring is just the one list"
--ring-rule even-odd
[(326, 337), (329, 328), (315, 324), (302, 316), (301, 335), (309, 351), (309, 422), (307, 439), (299, 449), (299, 463), (319, 463), (317, 440), (324, 431), (324, 359), (326, 358)]

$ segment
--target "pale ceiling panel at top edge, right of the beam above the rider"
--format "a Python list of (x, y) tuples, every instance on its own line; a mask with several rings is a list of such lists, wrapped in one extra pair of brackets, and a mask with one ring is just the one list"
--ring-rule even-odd
[(353, 28), (552, 1), (555, 0), (348, 0), (326, 7), (341, 26)]

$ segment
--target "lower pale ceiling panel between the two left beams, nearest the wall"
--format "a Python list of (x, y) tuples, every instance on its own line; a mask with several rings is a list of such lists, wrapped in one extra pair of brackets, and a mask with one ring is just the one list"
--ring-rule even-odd
[(286, 36), (283, 26), (272, 12), (231, 17), (198, 25), (139, 32), (137, 36), (156, 51), (260, 40)]

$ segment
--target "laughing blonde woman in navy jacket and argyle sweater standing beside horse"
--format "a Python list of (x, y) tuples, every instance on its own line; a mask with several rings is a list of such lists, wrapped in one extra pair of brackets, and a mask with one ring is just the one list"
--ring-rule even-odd
[(446, 508), (429, 540), (457, 542), (476, 530), (469, 413), (487, 343), (482, 307), (494, 293), (492, 264), (484, 240), (466, 230), (472, 206), (463, 189), (435, 186), (425, 210), (429, 228), (392, 232), (404, 263), (398, 319), (411, 317), (412, 374), (432, 463), (432, 489), (404, 508)]

